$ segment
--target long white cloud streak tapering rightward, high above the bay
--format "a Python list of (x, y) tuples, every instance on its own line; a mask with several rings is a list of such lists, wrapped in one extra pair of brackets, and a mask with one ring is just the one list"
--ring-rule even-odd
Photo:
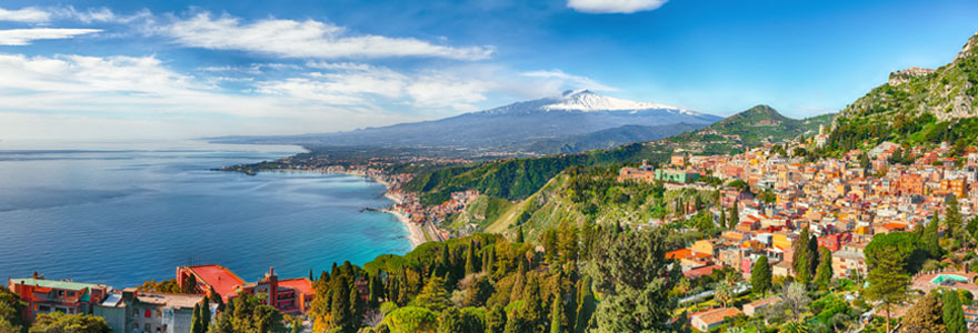
[(240, 50), (282, 58), (390, 58), (432, 57), (458, 60), (489, 58), (491, 47), (453, 48), (413, 38), (352, 34), (346, 28), (315, 20), (266, 19), (242, 23), (229, 16), (198, 13), (158, 28), (186, 47)]

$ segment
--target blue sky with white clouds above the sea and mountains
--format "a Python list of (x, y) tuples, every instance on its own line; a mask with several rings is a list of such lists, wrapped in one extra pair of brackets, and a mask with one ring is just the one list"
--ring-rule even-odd
[(0, 1), (0, 140), (301, 134), (563, 90), (837, 112), (950, 62), (976, 1)]

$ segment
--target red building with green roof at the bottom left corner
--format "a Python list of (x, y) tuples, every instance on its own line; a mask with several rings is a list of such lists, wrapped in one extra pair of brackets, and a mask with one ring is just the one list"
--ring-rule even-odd
[(110, 287), (103, 284), (33, 278), (10, 279), (8, 289), (27, 303), (21, 314), (26, 322), (33, 322), (41, 313), (54, 311), (68, 314), (91, 314), (92, 306), (102, 302)]

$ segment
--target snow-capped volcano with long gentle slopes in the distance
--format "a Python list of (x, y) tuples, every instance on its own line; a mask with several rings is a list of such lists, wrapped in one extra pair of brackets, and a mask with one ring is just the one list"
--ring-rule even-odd
[(572, 153), (666, 138), (721, 118), (676, 107), (566, 91), (451, 118), (292, 137), (229, 137), (218, 142), (307, 147), (447, 148), (473, 151)]

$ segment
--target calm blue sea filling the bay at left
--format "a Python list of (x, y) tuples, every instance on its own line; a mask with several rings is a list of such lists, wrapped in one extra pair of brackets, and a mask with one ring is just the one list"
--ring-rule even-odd
[(353, 175), (211, 171), (302, 152), (197, 141), (0, 141), (0, 279), (114, 287), (221, 264), (251, 282), (410, 250), (385, 188)]

